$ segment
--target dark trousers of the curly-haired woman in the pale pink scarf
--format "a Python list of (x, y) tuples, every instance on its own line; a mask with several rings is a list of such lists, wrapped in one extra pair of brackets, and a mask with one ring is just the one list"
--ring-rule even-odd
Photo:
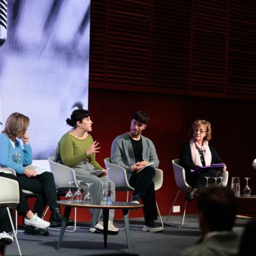
[(200, 173), (186, 173), (186, 181), (192, 188), (205, 187), (207, 179), (205, 177), (210, 177), (208, 179), (208, 184), (215, 182), (213, 177), (217, 177), (216, 169), (205, 169)]

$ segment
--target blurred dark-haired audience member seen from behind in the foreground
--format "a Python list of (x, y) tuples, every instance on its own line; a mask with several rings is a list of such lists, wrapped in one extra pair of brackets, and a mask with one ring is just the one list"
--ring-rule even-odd
[(199, 191), (199, 221), (203, 236), (180, 256), (237, 255), (239, 240), (232, 232), (236, 198), (228, 187), (207, 187)]

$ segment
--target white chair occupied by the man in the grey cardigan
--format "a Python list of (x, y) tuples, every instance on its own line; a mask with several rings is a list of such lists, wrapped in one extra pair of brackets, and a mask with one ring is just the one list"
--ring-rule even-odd
[[(134, 190), (134, 188), (130, 186), (127, 180), (126, 170), (121, 166), (110, 163), (110, 157), (105, 158), (104, 163), (105, 163), (105, 168), (108, 169), (107, 176), (110, 180), (112, 180), (115, 183), (116, 191), (127, 191), (126, 202), (128, 202), (129, 191)], [(159, 190), (163, 185), (163, 171), (161, 169), (155, 168), (155, 177), (153, 181), (155, 185), (155, 191)], [(157, 204), (157, 201), (155, 202)], [(163, 220), (160, 215), (158, 205), (157, 205), (157, 212), (163, 226)]]

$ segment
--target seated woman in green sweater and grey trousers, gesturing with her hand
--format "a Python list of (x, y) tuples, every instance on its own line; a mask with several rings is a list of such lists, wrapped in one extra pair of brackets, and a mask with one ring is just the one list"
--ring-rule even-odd
[[(92, 183), (90, 192), (94, 202), (99, 203), (101, 201), (102, 183), (104, 181), (110, 182), (112, 201), (115, 201), (115, 184), (108, 179), (107, 171), (95, 160), (95, 153), (99, 152), (99, 147), (97, 148), (99, 143), (93, 141), (93, 138), (88, 133), (91, 132), (91, 124), (93, 124), (90, 116), (91, 114), (88, 110), (78, 109), (73, 111), (71, 118), (66, 119), (66, 123), (73, 129), (62, 136), (57, 146), (56, 154), (59, 162), (73, 168), (76, 172), (76, 179), (82, 180), (80, 182), (82, 190), (88, 190), (85, 182)], [(104, 173), (102, 176), (95, 176), (89, 172), (93, 171), (93, 169), (104, 170)], [(94, 209), (91, 214), (93, 215), (93, 221), (90, 232), (95, 232), (95, 228), (102, 231), (102, 210)], [(113, 218), (114, 210), (110, 210), (108, 232), (118, 233), (118, 229), (113, 226)], [(96, 222), (98, 223), (96, 224)]]

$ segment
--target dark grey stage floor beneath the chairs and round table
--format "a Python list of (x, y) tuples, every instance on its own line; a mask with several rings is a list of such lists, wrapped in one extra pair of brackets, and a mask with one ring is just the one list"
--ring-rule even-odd
[[(165, 216), (163, 220), (166, 219)], [(169, 221), (179, 224), (181, 215), (171, 216)], [(244, 224), (249, 219), (238, 218), (234, 231), (241, 235)], [(158, 221), (159, 222), (159, 221)], [(122, 221), (115, 221), (117, 227), (123, 227)], [(143, 224), (143, 219), (131, 219), (130, 224)], [(107, 248), (104, 249), (103, 234), (90, 233), (88, 223), (79, 223), (84, 229), (74, 233), (65, 232), (59, 251), (55, 250), (59, 231), (49, 230), (49, 236), (24, 235), (18, 232), (23, 255), (117, 255), (127, 253), (126, 233), (120, 230), (118, 235), (108, 235)], [(20, 227), (22, 229), (22, 227)], [(201, 236), (197, 215), (187, 215), (185, 226), (172, 227), (165, 225), (163, 232), (143, 232), (141, 227), (130, 226), (131, 253), (136, 255), (177, 255), (185, 247), (191, 246)], [(15, 241), (6, 247), (5, 255), (18, 255)]]

